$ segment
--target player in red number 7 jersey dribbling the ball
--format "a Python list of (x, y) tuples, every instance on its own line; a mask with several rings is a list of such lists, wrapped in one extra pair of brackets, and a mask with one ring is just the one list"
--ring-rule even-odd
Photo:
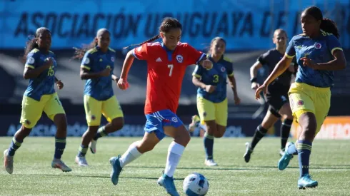
[[(181, 93), (181, 84), (187, 66), (198, 63), (204, 68), (212, 68), (206, 55), (196, 51), (188, 43), (181, 43), (181, 23), (173, 18), (165, 18), (159, 27), (159, 35), (140, 43), (126, 55), (118, 87), (129, 88), (127, 76), (134, 58), (147, 61), (147, 90), (144, 113), (146, 131), (144, 138), (130, 145), (122, 156), (110, 159), (111, 181), (118, 183), (121, 168), (152, 150), (165, 135), (174, 138), (169, 145), (164, 175), (159, 177), (159, 185), (170, 195), (179, 195), (174, 185), (173, 175), (190, 135), (184, 123), (176, 115)], [(155, 42), (161, 38), (162, 42)], [(141, 46), (140, 46), (141, 45)]]

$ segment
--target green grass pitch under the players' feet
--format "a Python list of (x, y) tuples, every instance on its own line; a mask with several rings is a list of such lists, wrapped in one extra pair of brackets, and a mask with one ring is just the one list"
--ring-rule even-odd
[[(81, 138), (67, 138), (62, 160), (73, 171), (64, 173), (51, 168), (54, 138), (26, 138), (14, 158), (14, 173), (6, 173), (1, 163), (0, 195), (166, 195), (156, 180), (164, 170), (170, 138), (153, 151), (127, 165), (119, 184), (109, 178), (109, 158), (124, 153), (139, 138), (100, 138), (97, 153), (86, 155), (89, 167), (74, 163)], [(350, 195), (349, 140), (315, 140), (310, 171), (319, 187), (297, 188), (297, 158), (279, 171), (279, 138), (264, 138), (256, 146), (250, 163), (242, 158), (246, 141), (251, 138), (221, 138), (214, 142), (214, 159), (218, 167), (204, 165), (203, 140), (192, 138), (175, 172), (176, 188), (181, 195), (182, 181), (191, 172), (200, 172), (209, 180), (207, 195)], [(2, 151), (11, 138), (0, 138)], [(2, 156), (1, 156), (2, 157)], [(1, 160), (3, 161), (3, 159)]]

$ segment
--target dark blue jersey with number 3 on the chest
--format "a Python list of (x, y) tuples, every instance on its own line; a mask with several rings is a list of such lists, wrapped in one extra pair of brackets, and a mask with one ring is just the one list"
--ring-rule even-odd
[(208, 93), (203, 88), (198, 88), (197, 95), (210, 100), (213, 103), (220, 103), (226, 99), (227, 76), (234, 76), (234, 67), (229, 58), (222, 56), (218, 62), (215, 62), (211, 56), (207, 56), (213, 63), (213, 68), (207, 70), (197, 65), (194, 69), (193, 76), (201, 78), (201, 82), (206, 85), (216, 86), (212, 93)]

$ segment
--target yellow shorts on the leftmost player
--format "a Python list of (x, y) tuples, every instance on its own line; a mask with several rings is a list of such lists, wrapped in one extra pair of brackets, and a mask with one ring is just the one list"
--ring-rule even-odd
[(41, 96), (39, 101), (23, 96), (20, 123), (25, 128), (34, 128), (43, 111), (51, 120), (54, 120), (56, 114), (65, 113), (57, 93)]

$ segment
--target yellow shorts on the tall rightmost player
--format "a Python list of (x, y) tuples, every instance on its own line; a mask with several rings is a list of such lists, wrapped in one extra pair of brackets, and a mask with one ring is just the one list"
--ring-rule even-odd
[(296, 120), (303, 113), (314, 113), (317, 122), (316, 133), (319, 133), (331, 107), (331, 89), (314, 87), (306, 83), (292, 83), (289, 89), (289, 102)]

